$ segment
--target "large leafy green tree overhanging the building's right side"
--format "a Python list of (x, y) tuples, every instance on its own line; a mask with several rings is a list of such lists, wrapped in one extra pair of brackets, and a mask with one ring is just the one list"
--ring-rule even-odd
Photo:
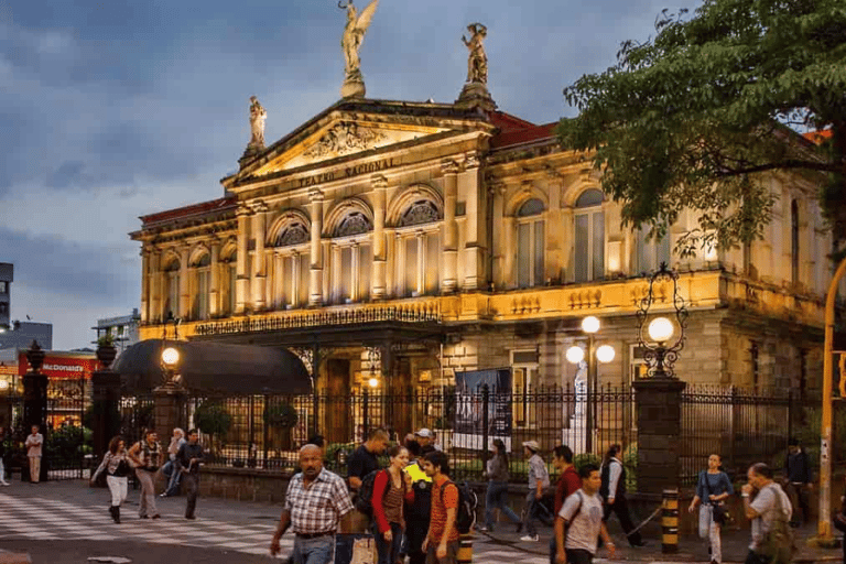
[[(846, 4), (705, 0), (662, 12), (657, 35), (564, 89), (579, 116), (564, 147), (595, 151), (626, 225), (662, 237), (685, 209), (698, 228), (677, 249), (761, 237), (776, 195), (760, 180), (794, 171), (822, 184), (835, 241), (846, 240)], [(796, 131), (823, 131), (816, 147)], [(825, 180), (827, 178), (827, 180)], [(821, 182), (822, 181), (822, 182)]]

